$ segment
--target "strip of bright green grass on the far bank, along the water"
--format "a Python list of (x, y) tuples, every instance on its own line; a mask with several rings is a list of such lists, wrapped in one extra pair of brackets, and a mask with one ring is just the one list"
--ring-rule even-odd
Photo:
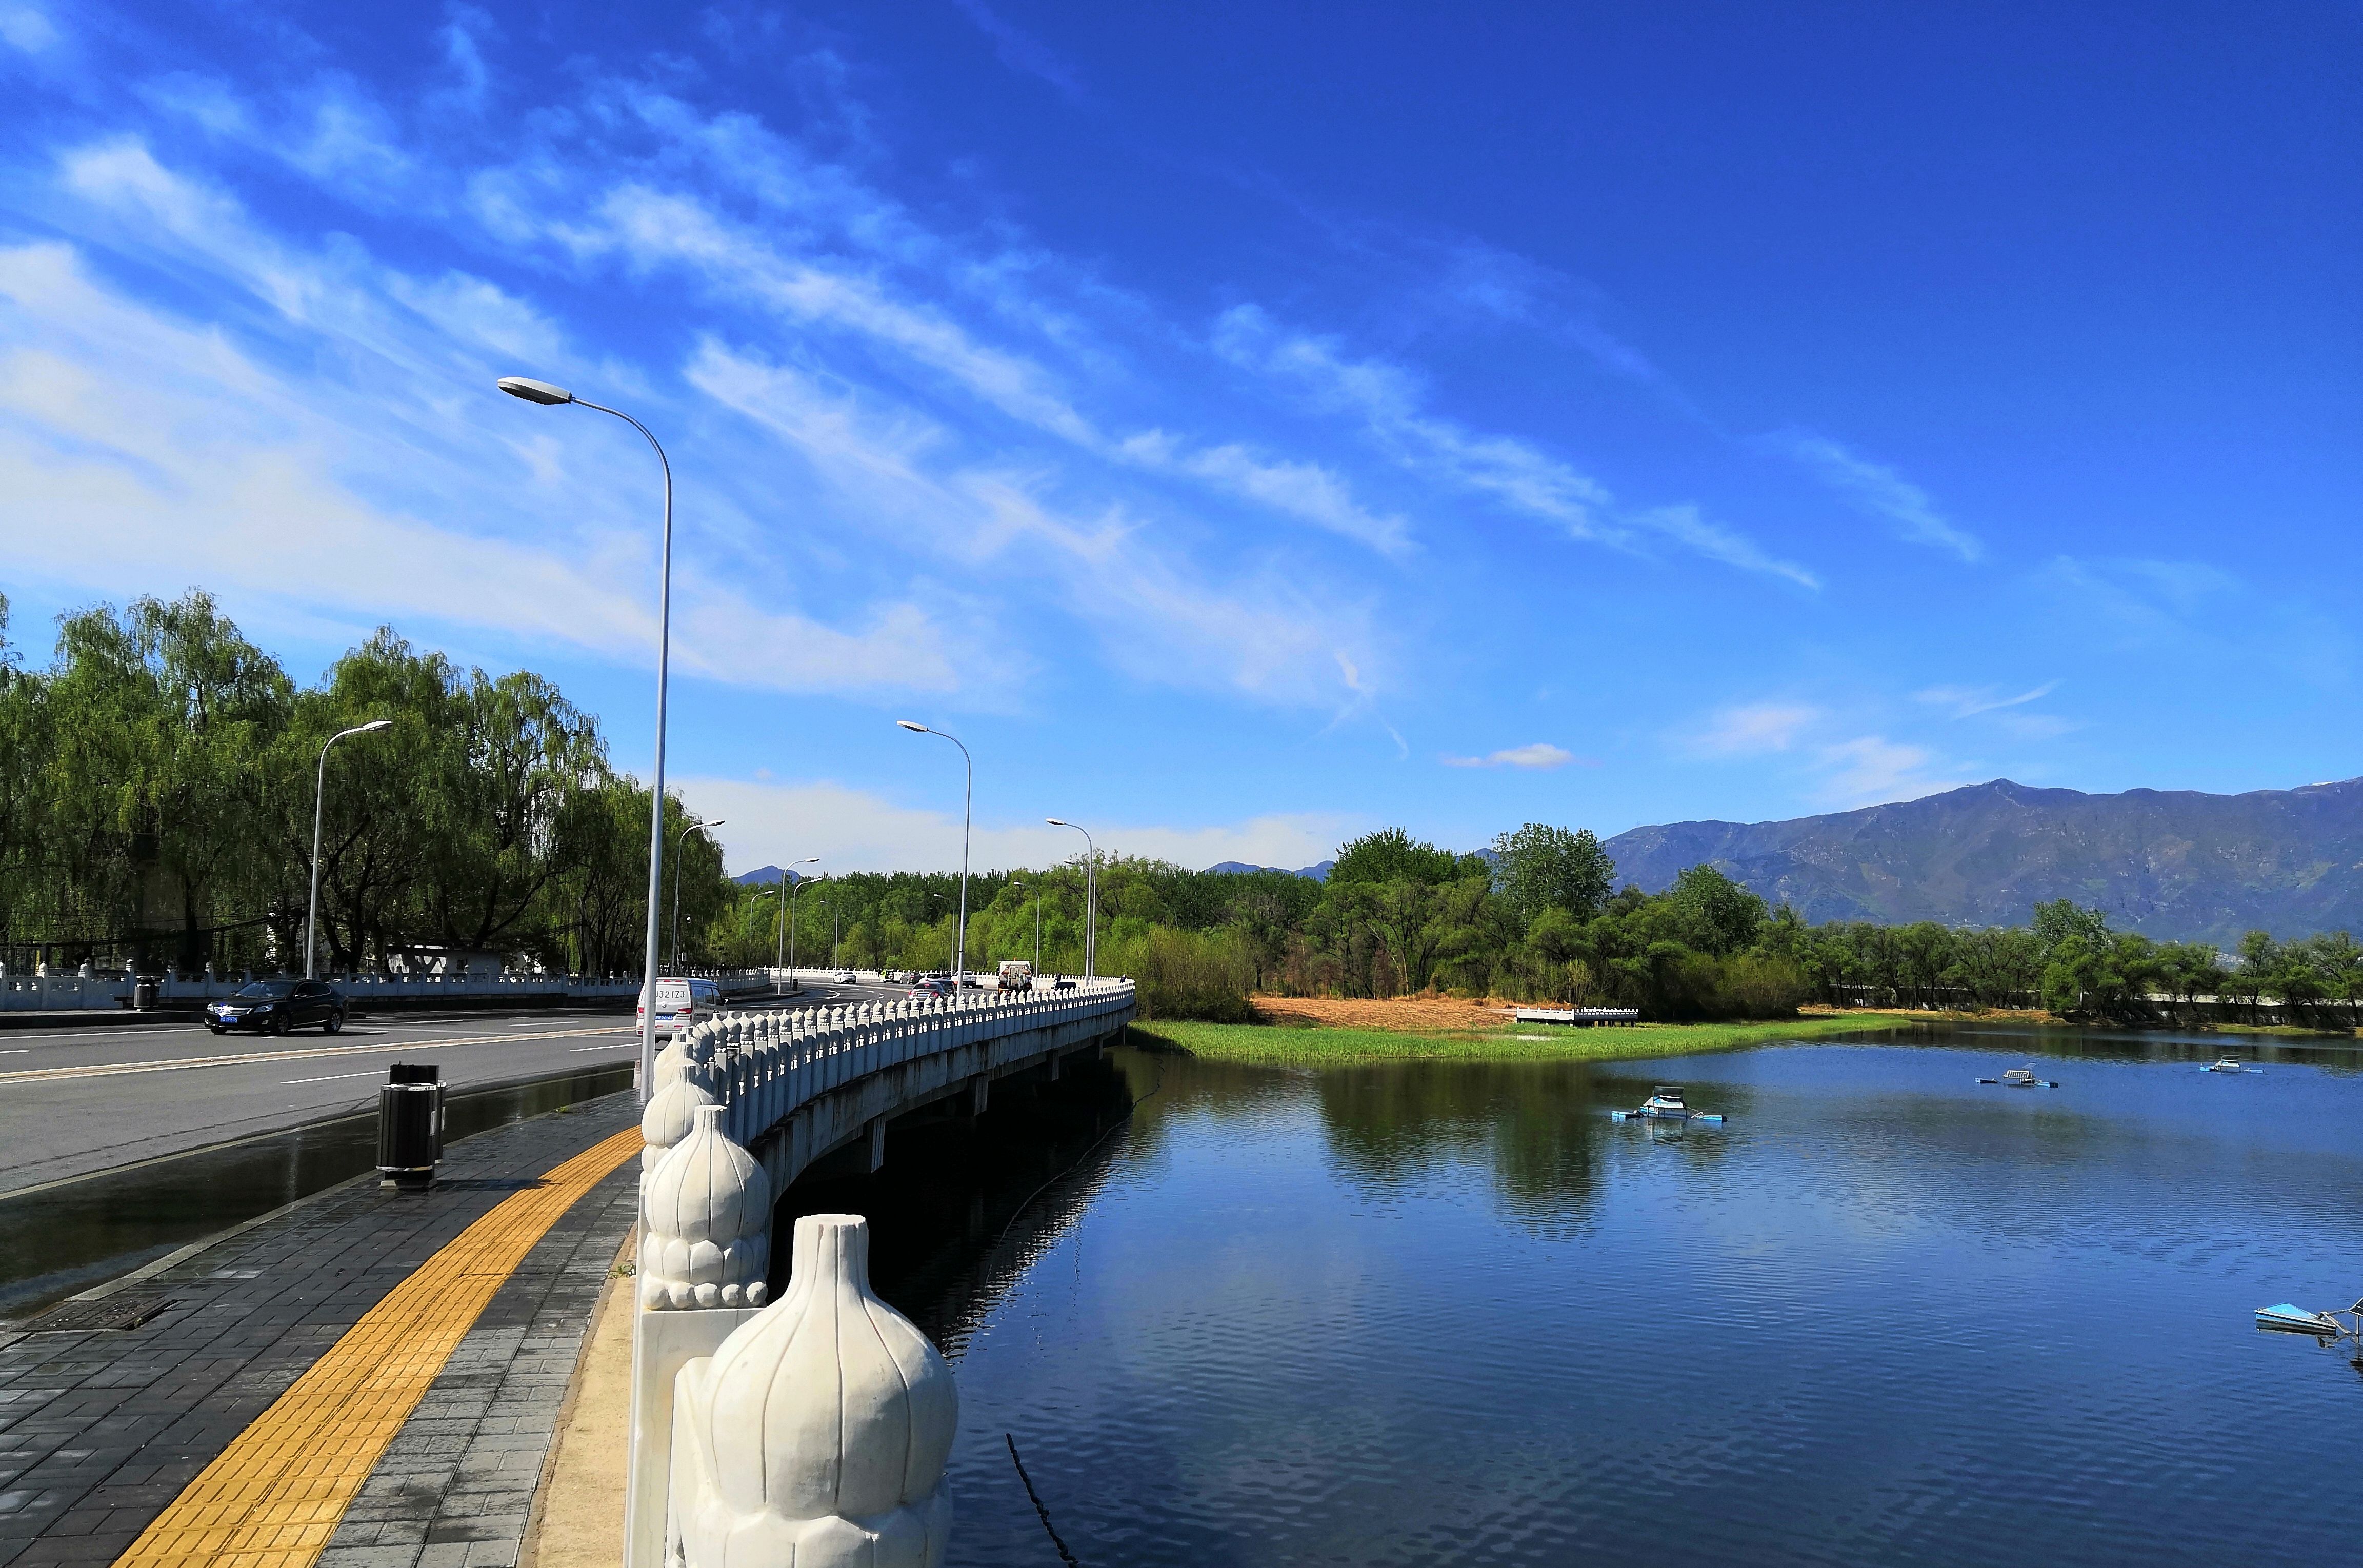
[[(1550, 1030), (1524, 1025), (1486, 1032), (1404, 1034), (1397, 1030), (1307, 1030), (1262, 1023), (1137, 1023), (1141, 1044), (1189, 1051), (1215, 1063), (1257, 1067), (1349, 1067), (1406, 1058), (1465, 1063), (1619, 1063), (1694, 1051), (1732, 1051), (1770, 1039), (1827, 1039), (1897, 1030), (1919, 1020), (1893, 1013), (1789, 1018), (1784, 1023), (1642, 1023), (1630, 1027)], [(1548, 1032), (1545, 1032), (1548, 1030)], [(1524, 1037), (1524, 1039), (1522, 1039)], [(1541, 1037), (1541, 1039), (1534, 1039)]]

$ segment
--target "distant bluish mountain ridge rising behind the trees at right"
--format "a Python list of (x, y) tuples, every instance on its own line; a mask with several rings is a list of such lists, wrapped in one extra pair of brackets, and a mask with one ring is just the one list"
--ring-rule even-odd
[(2087, 796), (2011, 779), (1789, 822), (1668, 822), (1607, 841), (1656, 893), (1711, 864), (1808, 921), (2023, 926), (2068, 897), (2160, 940), (2363, 930), (2363, 779)]

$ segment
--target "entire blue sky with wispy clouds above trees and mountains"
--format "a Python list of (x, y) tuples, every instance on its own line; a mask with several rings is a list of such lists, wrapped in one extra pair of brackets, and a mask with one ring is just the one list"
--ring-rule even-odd
[(532, 666), (735, 867), (2363, 772), (2354, 5), (0, 0), (14, 640)]

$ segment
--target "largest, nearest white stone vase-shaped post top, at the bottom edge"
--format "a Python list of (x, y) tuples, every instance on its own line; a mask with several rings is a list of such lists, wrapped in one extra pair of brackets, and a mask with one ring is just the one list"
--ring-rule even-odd
[(673, 1384), (669, 1563), (938, 1568), (952, 1370), (870, 1294), (870, 1221), (796, 1221), (787, 1292)]

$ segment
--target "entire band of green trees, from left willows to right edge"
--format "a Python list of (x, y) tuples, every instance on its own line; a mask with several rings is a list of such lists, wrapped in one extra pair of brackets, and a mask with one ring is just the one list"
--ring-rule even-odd
[[(487, 675), (392, 628), (295, 682), (203, 593), (59, 619), (28, 668), (0, 597), (0, 961), (222, 971), (300, 954), (314, 767), (328, 758), (321, 945), (331, 971), (501, 954), (638, 973), (647, 791), (598, 723), (529, 671)], [(834, 874), (787, 902), (723, 876), (666, 801), (666, 909), (685, 966), (948, 968), (959, 876)], [(969, 963), (1082, 968), (1085, 867), (969, 878)], [(1796, 1018), (1801, 1006), (2049, 1008), (2108, 1023), (2363, 1027), (2346, 933), (2153, 942), (2049, 902), (2027, 926), (1808, 926), (1716, 867), (1616, 886), (1586, 829), (1524, 824), (1479, 852), (1382, 829), (1326, 881), (1099, 864), (1099, 968), (1141, 982), (1146, 1023), (1255, 1027), (1250, 997), (1498, 999), (1640, 1008), (1652, 1025)], [(2224, 1018), (2224, 1004), (2238, 1015)]]

